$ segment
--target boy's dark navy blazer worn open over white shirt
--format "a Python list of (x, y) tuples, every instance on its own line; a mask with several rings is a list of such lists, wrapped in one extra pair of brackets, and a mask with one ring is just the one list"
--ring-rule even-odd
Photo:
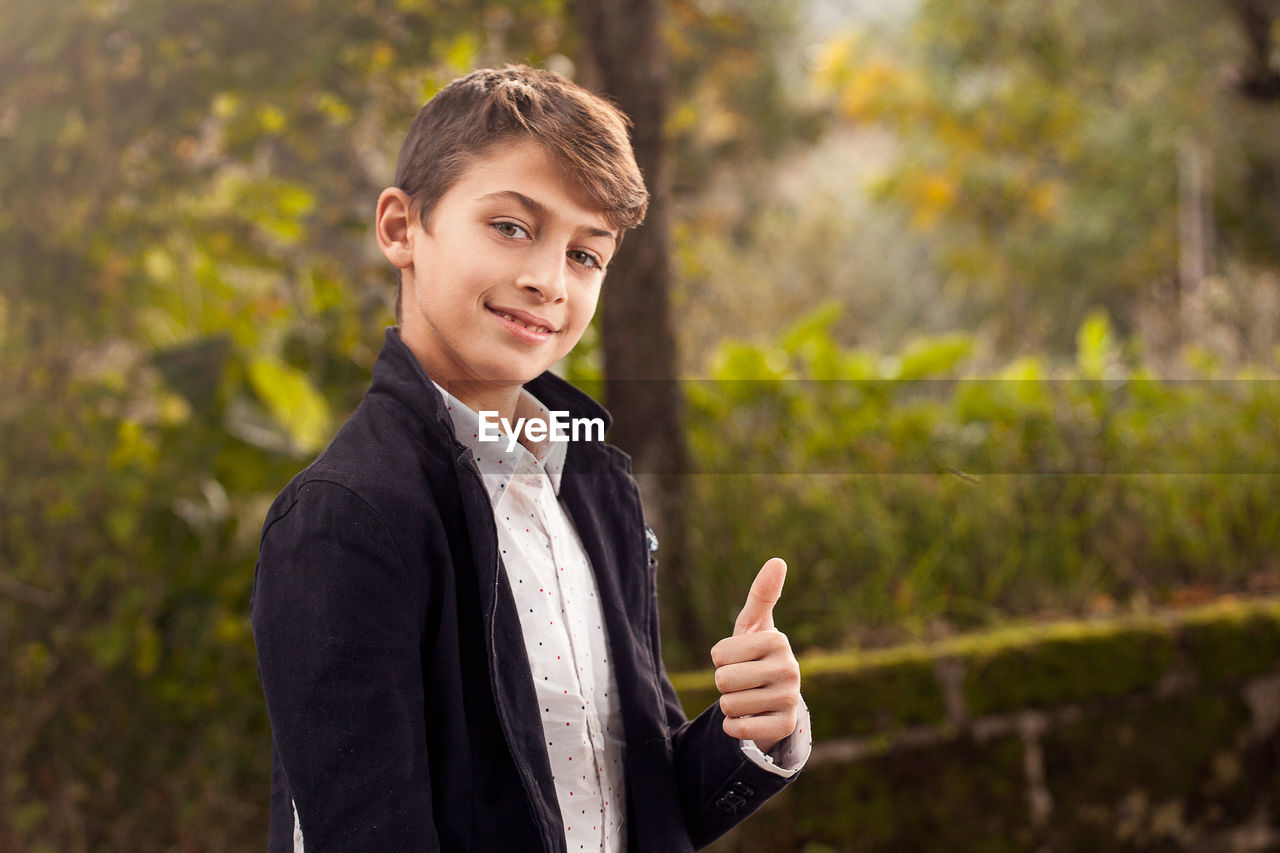
[[(552, 375), (527, 386), (608, 414)], [(628, 850), (709, 844), (787, 779), (662, 665), (655, 560), (625, 453), (570, 447), (561, 501), (600, 589), (626, 730)], [(471, 452), (398, 332), (365, 400), (280, 493), (251, 599), (274, 735), (270, 850), (564, 850), (529, 657)]]

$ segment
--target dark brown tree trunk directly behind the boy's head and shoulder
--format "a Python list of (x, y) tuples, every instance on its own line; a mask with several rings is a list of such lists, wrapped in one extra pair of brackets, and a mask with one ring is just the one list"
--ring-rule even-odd
[(664, 138), (668, 91), (659, 0), (609, 0), (579, 8), (586, 79), (632, 120), (632, 146), (649, 187), (645, 224), (611, 264), (602, 302), (605, 403), (611, 441), (635, 460), (648, 515), (662, 539), (662, 583), (676, 633), (708, 646), (687, 565), (689, 451), (671, 321), (669, 178)]

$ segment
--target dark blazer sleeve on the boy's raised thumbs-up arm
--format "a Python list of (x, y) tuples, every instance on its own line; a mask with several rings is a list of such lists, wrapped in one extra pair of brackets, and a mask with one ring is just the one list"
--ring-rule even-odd
[[(649, 567), (657, 570), (657, 558), (652, 553)], [(685, 826), (694, 847), (703, 848), (742, 822), (764, 800), (786, 788), (795, 775), (780, 776), (751, 761), (742, 751), (742, 743), (724, 733), (724, 713), (718, 701), (692, 720), (685, 717), (680, 697), (662, 662), (657, 587), (654, 589), (649, 642), (671, 731)]]

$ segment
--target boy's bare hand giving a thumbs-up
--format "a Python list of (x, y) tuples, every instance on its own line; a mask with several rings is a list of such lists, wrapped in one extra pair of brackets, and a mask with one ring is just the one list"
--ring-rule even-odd
[(712, 647), (724, 731), (754, 740), (760, 752), (795, 731), (800, 707), (800, 665), (786, 634), (773, 628), (773, 606), (786, 578), (787, 564), (777, 557), (765, 562), (733, 624), (733, 635)]

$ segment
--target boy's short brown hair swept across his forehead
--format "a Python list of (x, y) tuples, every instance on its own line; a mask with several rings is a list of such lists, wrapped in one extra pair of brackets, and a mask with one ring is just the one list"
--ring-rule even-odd
[[(401, 146), (396, 186), (422, 225), (463, 170), (494, 145), (530, 138), (544, 146), (618, 229), (644, 220), (649, 193), (614, 104), (556, 72), (527, 65), (481, 68), (460, 77), (417, 113)], [(399, 318), (399, 277), (396, 315)]]

